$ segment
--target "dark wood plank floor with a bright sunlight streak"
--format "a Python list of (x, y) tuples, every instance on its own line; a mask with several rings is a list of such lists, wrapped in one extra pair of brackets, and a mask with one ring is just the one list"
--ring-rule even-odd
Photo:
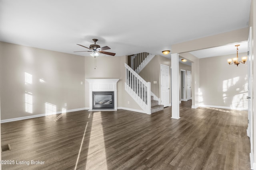
[(76, 111), (2, 123), (2, 145), (12, 148), (2, 160), (15, 161), (2, 169), (250, 170), (247, 112), (190, 107), (191, 100), (180, 104), (178, 120), (166, 107), (152, 115)]

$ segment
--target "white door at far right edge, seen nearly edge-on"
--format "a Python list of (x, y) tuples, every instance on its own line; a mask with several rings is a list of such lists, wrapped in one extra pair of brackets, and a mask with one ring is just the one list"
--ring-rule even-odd
[(247, 129), (247, 135), (250, 137), (250, 144), (251, 144), (251, 150), (253, 149), (253, 118), (252, 118), (252, 94), (253, 94), (253, 77), (252, 77), (252, 27), (250, 27), (249, 31), (249, 37), (248, 37), (248, 129)]

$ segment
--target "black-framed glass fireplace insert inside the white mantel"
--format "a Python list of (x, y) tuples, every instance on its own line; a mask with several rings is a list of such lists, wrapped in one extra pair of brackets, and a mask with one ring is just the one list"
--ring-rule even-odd
[(92, 92), (92, 109), (114, 109), (114, 92)]

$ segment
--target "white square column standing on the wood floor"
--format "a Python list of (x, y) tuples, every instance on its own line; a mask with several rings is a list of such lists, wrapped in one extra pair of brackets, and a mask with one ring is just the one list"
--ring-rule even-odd
[(179, 54), (171, 54), (172, 77), (172, 117), (180, 119), (180, 78), (179, 78)]

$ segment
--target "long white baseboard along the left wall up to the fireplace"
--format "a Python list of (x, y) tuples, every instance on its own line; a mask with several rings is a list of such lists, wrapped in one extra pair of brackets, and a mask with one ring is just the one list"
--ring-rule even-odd
[[(79, 109), (70, 109), (70, 110), (66, 110), (65, 113), (72, 112), (72, 111), (88, 110), (88, 109), (89, 108), (87, 108), (87, 107), (83, 107), (83, 108), (79, 108)], [(62, 113), (62, 111), (57, 111), (56, 113), (50, 113), (50, 114), (47, 114), (47, 115), (46, 114), (40, 114), (40, 115), (16, 117), (16, 118), (12, 118), (12, 119), (4, 119), (4, 120), (1, 120), (1, 123), (24, 120), (24, 119), (31, 119), (31, 118), (35, 118), (35, 117), (42, 117), (42, 116), (48, 116), (48, 115), (56, 115), (56, 114), (60, 114), (60, 113)]]

